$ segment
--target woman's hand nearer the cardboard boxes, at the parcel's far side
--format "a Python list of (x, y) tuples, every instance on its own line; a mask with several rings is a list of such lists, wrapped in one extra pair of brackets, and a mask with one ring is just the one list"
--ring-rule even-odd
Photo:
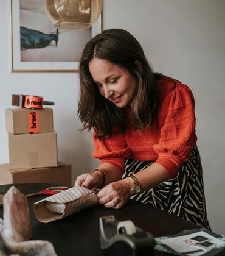
[(89, 188), (90, 190), (95, 190), (97, 187), (100, 186), (100, 183), (102, 181), (102, 173), (99, 171), (96, 171), (94, 173), (85, 173), (81, 174), (77, 177), (77, 180), (75, 181), (75, 186), (81, 186), (85, 188)]

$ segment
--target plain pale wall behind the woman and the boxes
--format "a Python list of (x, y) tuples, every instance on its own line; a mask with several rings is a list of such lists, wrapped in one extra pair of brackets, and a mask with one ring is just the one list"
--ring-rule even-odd
[[(104, 0), (103, 11), (103, 29), (130, 31), (155, 71), (192, 89), (209, 221), (225, 234), (225, 1)], [(77, 131), (77, 73), (10, 73), (9, 1), (0, 2), (0, 16), (0, 163), (9, 162), (5, 108), (12, 94), (38, 94), (56, 102), (58, 158), (72, 164), (74, 180), (97, 166), (91, 135)]]

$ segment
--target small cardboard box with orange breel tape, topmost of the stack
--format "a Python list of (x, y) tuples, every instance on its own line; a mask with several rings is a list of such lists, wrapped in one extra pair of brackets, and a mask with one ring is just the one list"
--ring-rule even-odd
[(53, 132), (52, 108), (7, 109), (6, 130), (12, 134)]

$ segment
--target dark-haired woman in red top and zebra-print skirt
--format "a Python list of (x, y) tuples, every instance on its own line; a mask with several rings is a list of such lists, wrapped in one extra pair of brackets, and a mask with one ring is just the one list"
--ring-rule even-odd
[(94, 129), (100, 165), (75, 185), (102, 188), (105, 207), (128, 197), (209, 228), (196, 147), (194, 98), (187, 85), (153, 73), (129, 32), (109, 29), (80, 60), (78, 115)]

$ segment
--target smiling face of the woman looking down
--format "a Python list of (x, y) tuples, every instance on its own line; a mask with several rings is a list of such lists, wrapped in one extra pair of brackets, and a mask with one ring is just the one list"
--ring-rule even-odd
[(103, 97), (119, 108), (131, 104), (137, 83), (126, 69), (106, 59), (94, 57), (89, 62), (89, 71)]

